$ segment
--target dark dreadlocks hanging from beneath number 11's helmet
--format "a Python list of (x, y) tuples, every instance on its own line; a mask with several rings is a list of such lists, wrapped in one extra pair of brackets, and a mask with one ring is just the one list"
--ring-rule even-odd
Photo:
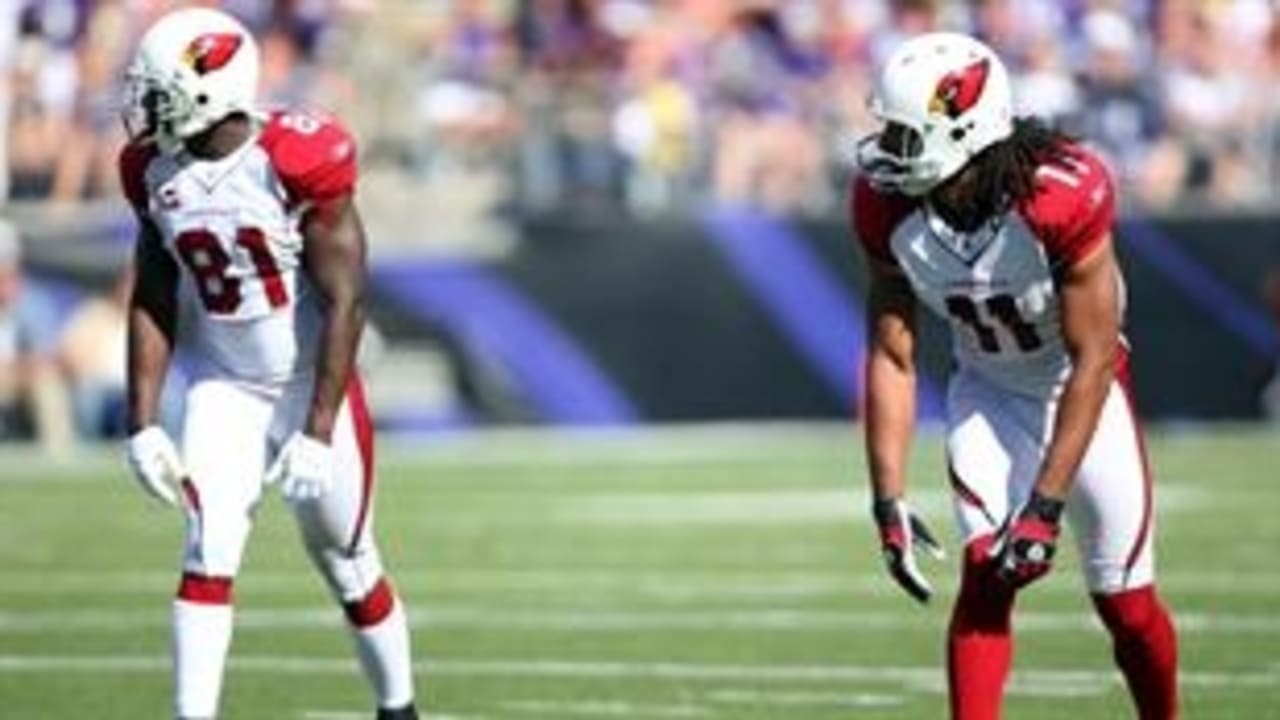
[(1070, 156), (1078, 138), (1050, 127), (1039, 118), (1014, 119), (1014, 132), (979, 152), (972, 163), (973, 197), (1006, 210), (1036, 192), (1036, 170), (1044, 163)]

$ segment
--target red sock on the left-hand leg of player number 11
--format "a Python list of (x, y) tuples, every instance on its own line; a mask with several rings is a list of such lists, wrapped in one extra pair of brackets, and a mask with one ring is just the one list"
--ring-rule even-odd
[(997, 720), (1014, 659), (1010, 616), (1014, 592), (992, 582), (987, 550), (992, 538), (965, 547), (960, 596), (947, 637), (947, 685), (954, 720)]

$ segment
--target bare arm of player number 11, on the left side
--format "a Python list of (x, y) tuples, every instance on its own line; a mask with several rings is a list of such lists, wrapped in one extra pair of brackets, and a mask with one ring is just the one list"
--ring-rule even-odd
[(902, 273), (870, 263), (867, 462), (876, 498), (901, 497), (915, 427), (915, 305)]

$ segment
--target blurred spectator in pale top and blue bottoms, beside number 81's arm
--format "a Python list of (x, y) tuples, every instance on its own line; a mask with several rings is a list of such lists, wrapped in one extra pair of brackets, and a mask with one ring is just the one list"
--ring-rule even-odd
[(109, 293), (79, 304), (67, 320), (58, 355), (70, 384), (76, 427), (84, 439), (124, 433), (125, 336), (133, 265)]

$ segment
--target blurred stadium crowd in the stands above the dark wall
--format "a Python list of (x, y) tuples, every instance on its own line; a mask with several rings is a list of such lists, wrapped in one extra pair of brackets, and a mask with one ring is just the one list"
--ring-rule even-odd
[[(120, 69), (172, 3), (0, 5), (4, 195), (110, 196)], [(220, 5), (260, 33), (266, 97), (338, 111), (396, 182), (444, 179), (484, 208), (829, 213), (872, 127), (869, 69), (940, 27), (1000, 49), (1021, 109), (1105, 149), (1130, 201), (1260, 204), (1280, 179), (1271, 0)]]

